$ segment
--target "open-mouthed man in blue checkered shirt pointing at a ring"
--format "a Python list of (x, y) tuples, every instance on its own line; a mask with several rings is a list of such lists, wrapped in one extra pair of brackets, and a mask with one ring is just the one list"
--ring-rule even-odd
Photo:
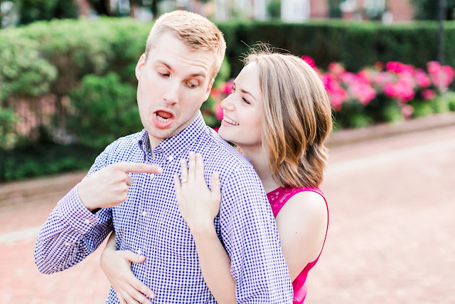
[[(109, 145), (87, 177), (52, 211), (38, 236), (42, 273), (82, 261), (115, 231), (117, 248), (146, 256), (132, 271), (154, 303), (215, 303), (203, 280), (191, 231), (178, 211), (173, 174), (189, 152), (220, 173), (215, 219), (232, 260), (240, 303), (289, 303), (292, 286), (262, 184), (250, 162), (207, 127), (199, 108), (225, 54), (223, 34), (202, 16), (161, 16), (136, 67), (144, 130)], [(111, 288), (106, 303), (118, 303)]]

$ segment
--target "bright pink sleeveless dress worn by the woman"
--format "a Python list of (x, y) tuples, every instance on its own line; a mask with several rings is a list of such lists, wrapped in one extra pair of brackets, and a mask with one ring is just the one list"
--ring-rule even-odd
[[(267, 199), (269, 199), (270, 206), (272, 206), (272, 211), (273, 215), (275, 218), (277, 217), (279, 211), (282, 209), (284, 204), (292, 197), (294, 194), (297, 194), (299, 192), (304, 192), (304, 191), (311, 191), (311, 192), (316, 192), (320, 194), (324, 201), (326, 201), (326, 198), (324, 197), (321, 189), (316, 188), (316, 187), (306, 187), (306, 188), (291, 188), (291, 187), (279, 187), (278, 189), (275, 189), (272, 192), (267, 193)], [(326, 201), (326, 206), (327, 206), (327, 201)], [(327, 206), (327, 216), (328, 216), (328, 206)], [(327, 220), (327, 229), (328, 229), (328, 220)], [(326, 237), (327, 237), (327, 230), (326, 230)], [(326, 243), (326, 237), (324, 238), (324, 243)], [(323, 247), (323, 245), (322, 245)], [(322, 252), (322, 248), (321, 248)], [(319, 253), (319, 256), (321, 256), (321, 253)], [(313, 266), (316, 265), (316, 263), (319, 260), (316, 258), (316, 260), (312, 261), (311, 263), (308, 263), (304, 270), (299, 273), (299, 276), (295, 278), (295, 280), (292, 282), (292, 287), (294, 288), (294, 299), (293, 299), (293, 304), (301, 304), (304, 303), (305, 297), (306, 297), (306, 277), (308, 276), (308, 272), (310, 271)]]

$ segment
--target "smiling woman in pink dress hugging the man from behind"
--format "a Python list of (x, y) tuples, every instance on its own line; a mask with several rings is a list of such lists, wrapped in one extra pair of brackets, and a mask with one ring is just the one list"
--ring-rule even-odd
[[(326, 90), (300, 58), (261, 51), (245, 58), (232, 94), (221, 106), (218, 132), (255, 167), (277, 222), (294, 303), (304, 303), (306, 276), (319, 259), (328, 229), (328, 207), (318, 188), (327, 159), (323, 142), (332, 129)], [(181, 179), (174, 178), (176, 197), (204, 280), (218, 303), (235, 303), (230, 259), (213, 226), (220, 209), (219, 177), (214, 174), (208, 189), (200, 154), (190, 154), (181, 169)], [(144, 259), (115, 251), (114, 239), (109, 239), (101, 264), (121, 303), (150, 303), (141, 293), (153, 293), (129, 271), (129, 263)]]

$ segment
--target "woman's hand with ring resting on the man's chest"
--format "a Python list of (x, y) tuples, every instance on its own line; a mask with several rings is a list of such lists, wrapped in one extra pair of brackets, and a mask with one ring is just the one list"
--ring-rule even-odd
[(201, 154), (190, 152), (188, 166), (181, 161), (181, 181), (174, 175), (178, 209), (194, 235), (199, 231), (213, 229), (213, 219), (220, 212), (221, 189), (218, 172), (211, 177), (208, 189), (204, 177), (204, 162)]

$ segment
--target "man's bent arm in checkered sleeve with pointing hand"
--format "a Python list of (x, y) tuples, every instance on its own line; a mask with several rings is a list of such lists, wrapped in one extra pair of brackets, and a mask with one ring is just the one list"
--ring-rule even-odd
[(134, 182), (129, 172), (163, 171), (151, 164), (107, 164), (107, 155), (105, 150), (97, 157), (87, 177), (58, 202), (41, 229), (35, 250), (41, 272), (69, 268), (100, 246), (113, 230), (111, 207), (127, 201), (129, 185)]

